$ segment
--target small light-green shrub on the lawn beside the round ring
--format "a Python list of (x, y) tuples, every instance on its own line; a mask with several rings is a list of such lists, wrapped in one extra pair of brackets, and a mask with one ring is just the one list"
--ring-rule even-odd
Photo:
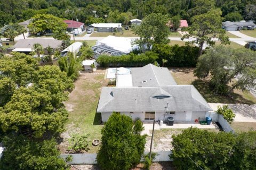
[(71, 138), (68, 139), (68, 149), (74, 152), (81, 152), (82, 150), (86, 150), (89, 143), (87, 140), (88, 137), (89, 134), (71, 134)]

